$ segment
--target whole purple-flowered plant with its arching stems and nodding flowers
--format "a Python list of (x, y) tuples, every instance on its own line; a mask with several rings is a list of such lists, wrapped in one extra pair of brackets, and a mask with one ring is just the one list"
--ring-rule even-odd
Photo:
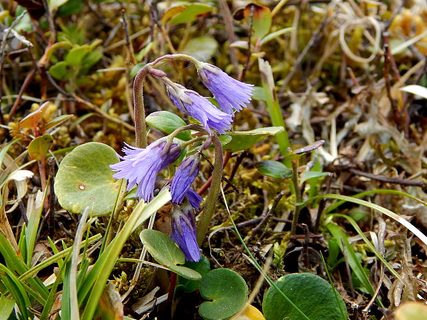
[[(218, 107), (210, 100), (193, 90), (174, 83), (162, 70), (154, 68), (160, 61), (185, 60), (194, 63), (202, 83), (213, 94)], [(146, 145), (147, 131), (145, 111), (143, 107), (142, 79), (150, 74), (165, 84), (171, 102), (188, 116), (198, 120), (200, 125), (187, 125), (176, 129), (169, 136), (160, 138)], [(184, 54), (168, 54), (156, 59), (143, 67), (136, 75), (134, 83), (136, 147), (126, 145), (118, 155), (120, 162), (110, 167), (115, 172), (114, 178), (126, 179), (127, 190), (137, 186), (136, 195), (140, 200), (149, 202), (154, 197), (154, 191), (160, 189), (162, 179), (160, 171), (169, 165), (176, 165), (176, 160), (185, 149), (191, 150), (180, 164), (177, 164), (171, 182), (163, 186), (170, 188), (173, 204), (171, 218), (171, 239), (183, 250), (185, 259), (191, 262), (200, 260), (198, 244), (202, 241), (211, 220), (222, 175), (222, 146), (217, 135), (225, 134), (231, 129), (235, 113), (246, 107), (251, 100), (253, 85), (238, 81), (218, 67), (196, 60)], [(176, 136), (185, 130), (197, 134), (193, 139), (183, 142)], [(198, 176), (200, 169), (200, 153), (209, 145), (215, 146), (216, 170), (213, 171), (211, 191), (204, 204), (204, 210), (196, 223), (196, 213), (200, 211), (202, 198), (191, 186)]]

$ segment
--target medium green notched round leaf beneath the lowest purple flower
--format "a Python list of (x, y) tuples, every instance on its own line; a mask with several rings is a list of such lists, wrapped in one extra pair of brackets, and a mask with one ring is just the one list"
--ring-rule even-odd
[(200, 295), (204, 299), (198, 309), (200, 315), (209, 320), (229, 319), (244, 307), (248, 297), (246, 282), (230, 269), (211, 270), (200, 281)]

